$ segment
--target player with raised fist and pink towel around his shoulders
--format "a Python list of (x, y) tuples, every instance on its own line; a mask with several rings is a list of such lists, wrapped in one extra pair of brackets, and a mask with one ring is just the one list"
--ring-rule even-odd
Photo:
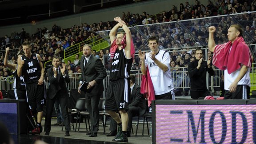
[(224, 99), (249, 99), (250, 68), (252, 53), (244, 42), (243, 29), (239, 24), (228, 28), (228, 42), (215, 44), (214, 26), (209, 27), (208, 48), (213, 52), (212, 64), (224, 70)]

